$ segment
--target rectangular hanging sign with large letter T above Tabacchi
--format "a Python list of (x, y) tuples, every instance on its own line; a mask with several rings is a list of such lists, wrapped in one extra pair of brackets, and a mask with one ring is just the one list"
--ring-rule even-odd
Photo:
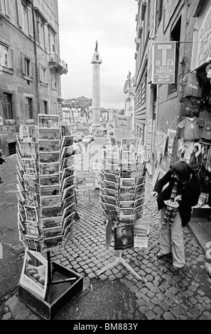
[(175, 83), (176, 42), (153, 43), (152, 83)]

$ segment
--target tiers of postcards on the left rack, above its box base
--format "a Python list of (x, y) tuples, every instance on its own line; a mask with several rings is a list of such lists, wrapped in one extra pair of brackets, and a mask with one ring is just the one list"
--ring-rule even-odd
[(61, 136), (58, 115), (38, 114), (16, 141), (19, 239), (31, 251), (58, 249), (75, 222), (73, 137)]

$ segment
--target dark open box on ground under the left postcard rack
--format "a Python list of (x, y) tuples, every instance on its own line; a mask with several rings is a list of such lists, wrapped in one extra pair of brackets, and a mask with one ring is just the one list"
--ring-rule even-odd
[[(75, 278), (72, 281), (65, 279)], [(53, 283), (63, 279), (63, 283)], [(83, 277), (70, 269), (55, 262), (52, 263), (52, 284), (50, 293), (47, 290), (45, 300), (27, 289), (22, 284), (18, 284), (18, 298), (26, 303), (31, 310), (43, 320), (50, 320), (75, 300), (82, 293)], [(49, 296), (50, 294), (50, 296)]]

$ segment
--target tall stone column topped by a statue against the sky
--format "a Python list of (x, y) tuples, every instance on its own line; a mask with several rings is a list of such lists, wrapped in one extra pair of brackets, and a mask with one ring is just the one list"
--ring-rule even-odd
[(92, 129), (97, 131), (101, 129), (100, 124), (100, 69), (99, 65), (102, 59), (97, 50), (97, 41), (92, 56)]

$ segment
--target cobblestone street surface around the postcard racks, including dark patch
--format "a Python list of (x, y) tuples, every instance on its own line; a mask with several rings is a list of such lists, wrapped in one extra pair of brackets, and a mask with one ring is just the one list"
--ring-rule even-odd
[[(1, 177), (6, 182), (14, 172), (15, 159), (9, 158), (9, 168), (1, 168)], [(14, 187), (13, 187), (14, 188)], [(3, 188), (4, 192), (4, 188)], [(186, 265), (178, 274), (169, 271), (171, 259), (158, 260), (159, 251), (159, 212), (156, 200), (152, 200), (151, 179), (146, 178), (145, 208), (143, 220), (150, 222), (148, 247), (124, 250), (123, 257), (144, 281), (140, 281), (121, 264), (113, 266), (97, 276), (96, 272), (113, 262), (119, 252), (114, 250), (112, 240), (105, 249), (104, 217), (100, 210), (99, 190), (77, 193), (77, 212), (80, 220), (74, 225), (72, 239), (65, 249), (53, 251), (51, 259), (84, 276), (89, 288), (87, 294), (67, 306), (58, 319), (92, 319), (92, 310), (97, 309), (97, 319), (118, 320), (211, 320), (211, 279), (204, 270), (205, 254), (198, 245), (193, 233), (184, 228)], [(4, 194), (1, 193), (1, 196)], [(11, 273), (12, 274), (12, 273)], [(117, 287), (111, 296), (107, 289)], [(119, 286), (119, 288), (118, 288)], [(119, 301), (116, 293), (119, 289)], [(98, 297), (94, 298), (98, 291)], [(101, 296), (101, 298), (99, 297)], [(104, 298), (104, 299), (103, 299)], [(108, 298), (108, 300), (107, 300)], [(124, 298), (129, 298), (127, 306)], [(104, 300), (104, 303), (102, 303)], [(89, 306), (87, 306), (90, 301)], [(107, 305), (107, 308), (104, 306)], [(110, 306), (110, 308), (109, 308)], [(119, 306), (119, 310), (118, 310)], [(36, 318), (27, 306), (13, 295), (5, 301), (4, 318)], [(124, 311), (121, 311), (124, 308)], [(77, 309), (77, 311), (76, 311)], [(18, 312), (19, 310), (19, 312)], [(24, 311), (25, 310), (25, 311)], [(94, 319), (94, 318), (93, 318)]]

